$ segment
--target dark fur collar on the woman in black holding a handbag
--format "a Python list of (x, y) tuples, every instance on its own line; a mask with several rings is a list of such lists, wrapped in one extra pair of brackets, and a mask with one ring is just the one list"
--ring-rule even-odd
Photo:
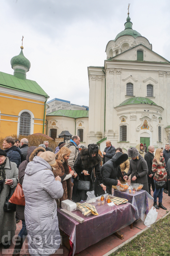
[(82, 164), (85, 170), (90, 169), (101, 162), (101, 157), (99, 156), (99, 154), (97, 157), (93, 157), (93, 159), (91, 159), (90, 157), (88, 157), (87, 152), (88, 152), (88, 149), (82, 149), (80, 151), (80, 157), (82, 159)]

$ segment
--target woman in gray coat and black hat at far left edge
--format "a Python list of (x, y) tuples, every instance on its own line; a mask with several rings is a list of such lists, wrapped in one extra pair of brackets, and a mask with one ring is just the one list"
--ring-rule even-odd
[[(5, 179), (7, 177), (7, 182)], [(3, 205), (10, 188), (16, 188), (18, 183), (18, 169), (16, 164), (10, 162), (4, 150), (0, 149), (0, 243), (4, 248), (10, 247), (11, 239), (15, 235), (15, 212), (4, 212)]]

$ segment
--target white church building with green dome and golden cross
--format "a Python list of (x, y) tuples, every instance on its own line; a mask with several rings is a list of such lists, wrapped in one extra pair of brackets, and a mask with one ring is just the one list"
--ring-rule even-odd
[(104, 67), (88, 67), (89, 143), (121, 147), (165, 145), (170, 133), (170, 61), (152, 51), (147, 38), (125, 29), (106, 46)]

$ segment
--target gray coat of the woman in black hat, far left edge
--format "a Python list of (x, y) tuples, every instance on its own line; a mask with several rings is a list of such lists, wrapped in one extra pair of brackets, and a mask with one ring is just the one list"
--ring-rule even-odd
[(2, 237), (4, 236), (5, 241), (8, 241), (13, 238), (16, 230), (16, 219), (15, 212), (4, 212), (3, 205), (5, 203), (5, 199), (9, 194), (9, 189), (16, 188), (18, 182), (18, 169), (16, 164), (13, 162), (9, 162), (8, 157), (6, 158), (5, 165), (5, 174), (7, 179), (13, 180), (12, 185), (3, 184), (3, 189), (0, 193), (0, 243), (2, 243)]

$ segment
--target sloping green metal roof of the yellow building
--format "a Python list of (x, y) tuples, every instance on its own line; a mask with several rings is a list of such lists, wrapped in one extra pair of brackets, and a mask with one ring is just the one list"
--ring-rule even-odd
[(36, 81), (29, 79), (19, 79), (13, 75), (0, 72), (0, 87), (6, 87), (17, 91), (30, 92), (48, 97), (47, 93)]

